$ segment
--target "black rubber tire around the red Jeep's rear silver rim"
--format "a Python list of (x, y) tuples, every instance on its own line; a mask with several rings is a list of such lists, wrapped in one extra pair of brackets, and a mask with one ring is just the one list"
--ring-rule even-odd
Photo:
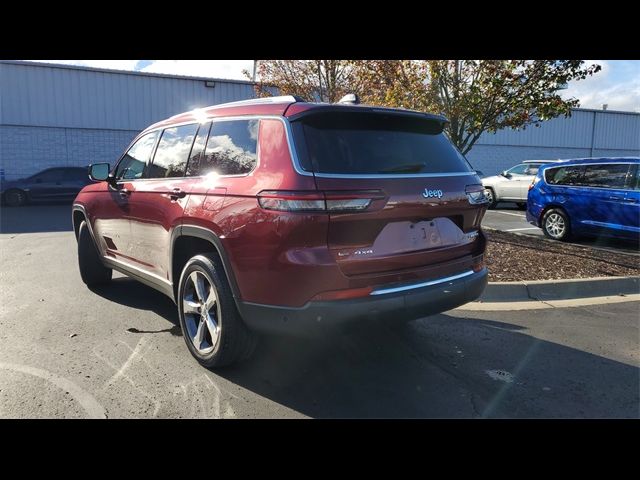
[[(206, 338), (204, 344), (205, 346), (208, 345), (206, 348), (213, 347), (210, 352), (206, 353), (202, 353), (196, 348), (194, 345), (195, 337), (192, 339), (192, 334), (190, 333), (196, 323), (204, 322), (202, 314), (189, 313), (189, 318), (187, 319), (184, 312), (185, 298), (192, 298), (196, 302), (198, 300), (197, 293), (193, 289), (191, 290), (193, 293), (191, 295), (189, 293), (189, 289), (194, 286), (193, 277), (191, 276), (195, 272), (199, 272), (196, 273), (196, 276), (204, 275), (204, 278), (209, 283), (208, 286), (205, 286), (205, 288), (209, 288), (209, 293), (211, 292), (211, 287), (215, 287), (217, 297), (215, 307), (211, 307), (210, 312), (216, 316), (215, 321), (219, 328), (218, 336), (213, 340), (212, 330), (206, 329), (206, 333), (203, 336), (203, 338)], [(215, 254), (203, 253), (192, 257), (187, 262), (180, 275), (178, 298), (176, 300), (180, 327), (182, 328), (185, 343), (191, 355), (201, 365), (207, 368), (223, 367), (246, 360), (251, 356), (255, 350), (257, 338), (242, 321), (220, 259)], [(189, 322), (189, 327), (187, 326), (187, 321)], [(206, 324), (206, 322), (204, 323)], [(208, 337), (205, 337), (206, 335)], [(202, 343), (200, 347), (203, 347)]]

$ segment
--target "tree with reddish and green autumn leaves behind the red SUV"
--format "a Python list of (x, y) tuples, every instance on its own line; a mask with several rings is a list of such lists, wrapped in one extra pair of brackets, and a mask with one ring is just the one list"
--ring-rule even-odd
[(600, 68), (582, 60), (262, 60), (256, 89), (328, 102), (357, 93), (372, 105), (441, 113), (467, 154), (484, 132), (570, 116), (580, 102), (560, 90)]

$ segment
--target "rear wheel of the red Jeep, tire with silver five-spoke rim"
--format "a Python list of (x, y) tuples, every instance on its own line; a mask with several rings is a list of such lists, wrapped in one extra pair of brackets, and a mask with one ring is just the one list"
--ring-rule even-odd
[(242, 321), (214, 254), (196, 255), (187, 262), (177, 303), (187, 348), (201, 365), (222, 367), (251, 356), (256, 338)]

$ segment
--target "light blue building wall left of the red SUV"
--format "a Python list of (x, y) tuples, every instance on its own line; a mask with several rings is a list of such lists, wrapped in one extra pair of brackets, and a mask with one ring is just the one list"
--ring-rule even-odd
[(253, 96), (237, 80), (1, 61), (0, 175), (113, 164), (152, 123)]

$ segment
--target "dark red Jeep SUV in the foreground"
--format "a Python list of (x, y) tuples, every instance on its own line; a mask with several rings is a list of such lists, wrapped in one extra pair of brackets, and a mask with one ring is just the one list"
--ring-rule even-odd
[(112, 269), (178, 305), (207, 367), (253, 331), (406, 320), (487, 282), (480, 179), (446, 119), (296, 97), (199, 109), (136, 137), (73, 207), (83, 281)]

